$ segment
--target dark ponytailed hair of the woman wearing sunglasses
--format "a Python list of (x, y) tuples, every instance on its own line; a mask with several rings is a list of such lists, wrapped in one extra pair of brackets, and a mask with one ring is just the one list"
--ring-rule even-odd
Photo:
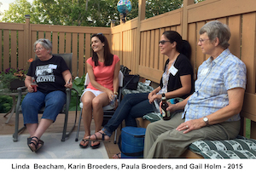
[(163, 32), (163, 35), (165, 35), (166, 38), (169, 39), (171, 43), (176, 42), (177, 52), (186, 55), (186, 57), (188, 57), (190, 60), (191, 46), (188, 41), (183, 40), (183, 37), (181, 37), (180, 34), (175, 31), (166, 31), (166, 32)]

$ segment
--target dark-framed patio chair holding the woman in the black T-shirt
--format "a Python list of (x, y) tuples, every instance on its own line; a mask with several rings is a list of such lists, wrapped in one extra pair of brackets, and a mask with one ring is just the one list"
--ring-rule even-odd
[[(67, 63), (67, 66), (70, 70), (70, 72), (72, 73), (72, 56), (73, 54), (54, 54), (57, 56), (61, 56)], [(37, 60), (38, 57), (36, 55), (35, 60)], [(22, 128), (19, 129), (19, 115), (20, 113), (22, 113), (22, 109), (21, 109), (21, 92), (22, 89), (24, 89), (24, 87), (20, 87), (17, 89), (18, 91), (18, 99), (17, 99), (17, 104), (16, 104), (16, 108), (15, 108), (15, 133), (13, 135), (13, 140), (14, 141), (18, 141), (18, 135), (20, 132), (22, 132), (24, 129), (26, 129), (25, 126), (23, 126)], [(69, 110), (69, 105), (70, 105), (70, 101), (71, 101), (71, 90), (74, 90), (76, 92), (77, 95), (77, 102), (76, 102), (76, 116), (75, 116), (75, 120), (73, 123), (73, 127), (69, 130), (69, 132), (67, 133), (67, 119), (68, 119), (68, 110)], [(78, 110), (78, 100), (79, 100), (79, 94), (78, 91), (76, 89), (66, 89), (66, 94), (67, 94), (67, 102), (66, 104), (63, 106), (62, 110), (60, 113), (64, 113), (65, 114), (65, 120), (64, 120), (64, 126), (63, 126), (63, 130), (62, 130), (62, 137), (61, 137), (61, 141), (65, 141), (67, 137), (69, 137), (69, 135), (72, 133), (76, 121), (77, 121), (77, 110)], [(44, 112), (44, 107), (41, 108), (41, 110), (38, 113), (43, 113)]]

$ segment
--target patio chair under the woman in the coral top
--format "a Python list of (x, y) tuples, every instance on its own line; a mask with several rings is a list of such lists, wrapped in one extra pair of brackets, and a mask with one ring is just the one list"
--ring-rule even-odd
[[(118, 104), (120, 103), (121, 101), (121, 90), (123, 88), (123, 79), (124, 79), (124, 75), (121, 71), (119, 71), (119, 96), (118, 96)], [(88, 77), (88, 73), (86, 73), (86, 76), (85, 76), (85, 81), (84, 81), (84, 88), (87, 87), (87, 85), (90, 83), (90, 78)], [(82, 119), (82, 110), (83, 110), (83, 103), (80, 102), (79, 104), (80, 108), (81, 108), (81, 112), (80, 112), (80, 117), (79, 117), (79, 125), (78, 125), (78, 130), (77, 130), (77, 135), (76, 135), (76, 141), (79, 140), (79, 129), (80, 129), (80, 124), (81, 124), (81, 119)], [(104, 106), (103, 107), (103, 118), (104, 119), (109, 119), (109, 118), (112, 118), (113, 116), (113, 113), (115, 112), (115, 109), (113, 109), (113, 106)], [(114, 131), (114, 140), (113, 140), (113, 143), (116, 144), (116, 137), (117, 137), (117, 129), (115, 129)]]

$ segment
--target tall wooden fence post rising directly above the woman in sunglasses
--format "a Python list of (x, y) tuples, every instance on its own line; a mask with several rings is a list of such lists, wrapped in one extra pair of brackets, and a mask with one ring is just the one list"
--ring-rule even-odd
[(194, 0), (183, 0), (183, 17), (181, 21), (182, 37), (188, 39), (188, 6), (194, 4)]

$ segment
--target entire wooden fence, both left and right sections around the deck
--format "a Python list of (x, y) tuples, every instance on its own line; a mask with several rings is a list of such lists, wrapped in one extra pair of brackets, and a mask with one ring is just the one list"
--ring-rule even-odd
[[(166, 56), (160, 54), (158, 42), (166, 30), (179, 32), (192, 46), (192, 65), (195, 73), (198, 66), (208, 57), (197, 46), (199, 30), (207, 21), (220, 20), (230, 26), (230, 51), (243, 60), (247, 66), (247, 90), (241, 115), (256, 120), (255, 95), (255, 0), (206, 0), (194, 4), (194, 0), (183, 0), (183, 8), (160, 14), (144, 20), (146, 0), (138, 0), (139, 14), (125, 24), (102, 27), (45, 26), (0, 23), (0, 70), (9, 66), (26, 66), (26, 60), (34, 57), (32, 43), (38, 38), (49, 38), (53, 53), (73, 52), (73, 76), (86, 72), (84, 61), (90, 57), (90, 34), (102, 32), (112, 45), (122, 65), (145, 77), (160, 82)], [(9, 49), (11, 49), (9, 51)], [(195, 76), (196, 77), (196, 76)], [(252, 122), (252, 130), (256, 123)], [(251, 133), (256, 138), (256, 132)]]

